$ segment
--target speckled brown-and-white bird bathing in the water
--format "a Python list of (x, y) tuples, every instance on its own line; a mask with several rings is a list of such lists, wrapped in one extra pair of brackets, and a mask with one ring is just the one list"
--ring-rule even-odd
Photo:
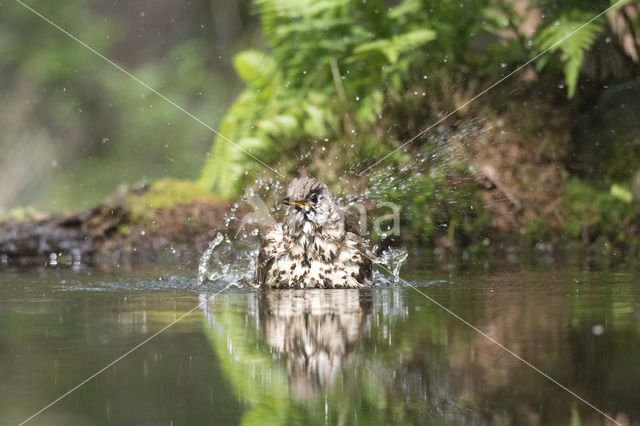
[(373, 253), (345, 229), (329, 187), (299, 177), (282, 199), (282, 223), (264, 233), (253, 285), (261, 288), (361, 288), (371, 285)]

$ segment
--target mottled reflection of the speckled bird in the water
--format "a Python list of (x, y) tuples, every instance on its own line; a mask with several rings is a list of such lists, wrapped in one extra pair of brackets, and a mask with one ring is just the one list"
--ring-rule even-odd
[(260, 297), (266, 343), (286, 354), (291, 394), (311, 398), (354, 366), (355, 346), (370, 327), (371, 301), (359, 290), (276, 291)]

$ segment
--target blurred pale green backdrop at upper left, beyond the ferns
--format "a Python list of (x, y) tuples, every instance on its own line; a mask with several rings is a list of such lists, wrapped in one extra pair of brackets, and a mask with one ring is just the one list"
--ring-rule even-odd
[[(212, 127), (232, 99), (215, 2), (28, 4)], [(197, 178), (210, 130), (16, 2), (0, 5), (0, 75), (0, 175), (12, 187), (0, 208), (87, 207), (120, 183)]]

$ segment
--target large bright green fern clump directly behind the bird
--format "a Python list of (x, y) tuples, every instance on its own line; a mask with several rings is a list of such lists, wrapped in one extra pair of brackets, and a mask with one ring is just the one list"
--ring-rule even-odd
[[(402, 102), (416, 83), (421, 92), (437, 86), (427, 75), (454, 72), (488, 1), (471, 0), (465, 8), (434, 0), (405, 0), (392, 8), (383, 0), (254, 4), (270, 52), (246, 51), (235, 58), (246, 90), (220, 131), (286, 172), (300, 167), (300, 157), (314, 143), (338, 146), (343, 165), (379, 157), (385, 146), (397, 145), (393, 135), (384, 141), (370, 137), (385, 103)], [(218, 137), (200, 183), (228, 198), (256, 167)]]

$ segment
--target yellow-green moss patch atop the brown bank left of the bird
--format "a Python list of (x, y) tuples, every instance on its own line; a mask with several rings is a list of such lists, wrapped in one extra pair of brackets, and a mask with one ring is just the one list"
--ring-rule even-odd
[(150, 220), (157, 209), (216, 199), (212, 192), (203, 189), (196, 182), (161, 179), (151, 184), (143, 194), (126, 195), (125, 208), (132, 223), (141, 223)]

